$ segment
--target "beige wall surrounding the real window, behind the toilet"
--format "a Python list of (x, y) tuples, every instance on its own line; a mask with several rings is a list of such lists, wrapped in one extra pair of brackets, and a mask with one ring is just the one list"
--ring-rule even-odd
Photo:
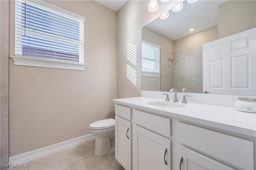
[[(90, 134), (114, 117), (117, 14), (94, 1), (47, 1), (86, 18), (84, 71), (15, 66), (10, 60), (10, 156)], [(14, 55), (14, 1), (10, 55)]]

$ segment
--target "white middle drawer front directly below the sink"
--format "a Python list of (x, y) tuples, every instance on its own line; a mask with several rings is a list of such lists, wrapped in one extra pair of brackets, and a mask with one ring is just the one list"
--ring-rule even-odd
[(144, 111), (133, 111), (134, 123), (150, 129), (158, 134), (171, 137), (171, 119), (146, 113)]

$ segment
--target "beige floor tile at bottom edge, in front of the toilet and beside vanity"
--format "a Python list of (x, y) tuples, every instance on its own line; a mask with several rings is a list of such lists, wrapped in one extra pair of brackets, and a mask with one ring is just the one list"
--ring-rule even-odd
[(105, 156), (92, 155), (71, 164), (72, 170), (114, 170)]

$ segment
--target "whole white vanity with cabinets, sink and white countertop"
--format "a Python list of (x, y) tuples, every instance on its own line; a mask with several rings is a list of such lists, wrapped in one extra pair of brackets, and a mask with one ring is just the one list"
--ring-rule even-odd
[(115, 156), (126, 170), (256, 168), (255, 113), (147, 97), (113, 102)]

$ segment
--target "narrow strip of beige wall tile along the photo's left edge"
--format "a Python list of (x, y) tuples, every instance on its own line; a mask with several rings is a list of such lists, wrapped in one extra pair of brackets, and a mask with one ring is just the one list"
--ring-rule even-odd
[[(9, 162), (9, 0), (0, 0), (0, 158)], [(1, 170), (3, 168), (1, 167)]]

